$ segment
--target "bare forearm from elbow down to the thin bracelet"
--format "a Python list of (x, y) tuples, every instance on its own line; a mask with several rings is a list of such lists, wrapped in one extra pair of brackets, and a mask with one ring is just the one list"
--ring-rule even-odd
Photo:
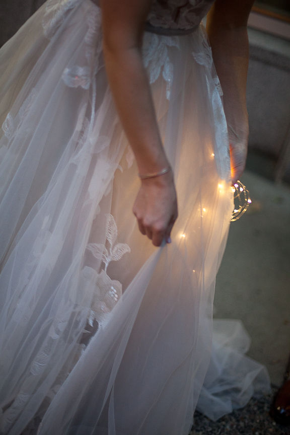
[(110, 88), (140, 173), (158, 172), (168, 161), (160, 138), (147, 73), (137, 46), (104, 46)]

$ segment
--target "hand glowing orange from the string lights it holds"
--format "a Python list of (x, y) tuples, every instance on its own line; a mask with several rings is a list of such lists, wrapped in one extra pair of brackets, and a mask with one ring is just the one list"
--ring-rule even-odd
[(231, 155), (231, 178), (232, 183), (235, 184), (240, 179), (246, 166), (247, 150), (248, 150), (248, 137), (249, 125), (246, 121), (242, 129), (237, 133), (233, 128), (229, 129), (230, 140), (230, 155)]

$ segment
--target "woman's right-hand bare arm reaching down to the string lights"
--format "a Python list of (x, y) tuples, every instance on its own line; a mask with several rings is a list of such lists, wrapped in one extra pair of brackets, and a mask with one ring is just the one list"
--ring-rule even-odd
[(206, 22), (213, 61), (224, 92), (233, 182), (243, 173), (247, 157), (247, 21), (252, 5), (253, 0), (216, 0)]

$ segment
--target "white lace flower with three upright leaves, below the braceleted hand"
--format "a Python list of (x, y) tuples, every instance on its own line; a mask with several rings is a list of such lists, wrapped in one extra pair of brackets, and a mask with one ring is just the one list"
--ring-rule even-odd
[(115, 220), (111, 214), (108, 214), (106, 243), (89, 243), (87, 246), (93, 256), (103, 263), (103, 270), (97, 276), (96, 293), (89, 316), (90, 326), (93, 326), (94, 320), (102, 324), (122, 295), (122, 284), (115, 279), (111, 279), (107, 274), (107, 268), (111, 261), (118, 261), (124, 254), (131, 251), (126, 243), (116, 243), (117, 236)]

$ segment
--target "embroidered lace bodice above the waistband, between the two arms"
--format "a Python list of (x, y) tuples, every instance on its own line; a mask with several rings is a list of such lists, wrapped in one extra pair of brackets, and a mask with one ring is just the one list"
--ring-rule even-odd
[(190, 29), (200, 23), (214, 0), (153, 0), (148, 22), (165, 29)]

